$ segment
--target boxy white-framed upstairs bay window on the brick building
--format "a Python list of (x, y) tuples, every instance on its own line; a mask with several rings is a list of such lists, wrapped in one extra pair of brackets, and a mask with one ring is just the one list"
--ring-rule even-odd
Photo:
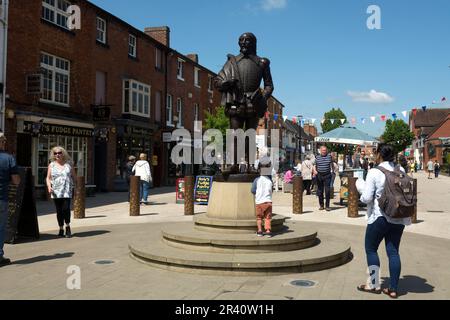
[[(128, 82), (128, 88), (126, 87)], [(151, 116), (151, 86), (134, 79), (123, 80), (122, 112), (139, 117), (150, 118)], [(136, 110), (133, 110), (134, 94), (136, 95)], [(128, 95), (128, 111), (125, 110), (125, 97)], [(142, 97), (142, 99), (141, 99)], [(147, 98), (147, 100), (146, 100)], [(142, 102), (142, 105), (141, 105)], [(145, 112), (145, 103), (148, 103), (148, 113)], [(142, 106), (142, 112), (139, 108)]]

